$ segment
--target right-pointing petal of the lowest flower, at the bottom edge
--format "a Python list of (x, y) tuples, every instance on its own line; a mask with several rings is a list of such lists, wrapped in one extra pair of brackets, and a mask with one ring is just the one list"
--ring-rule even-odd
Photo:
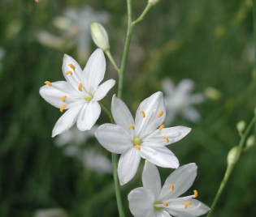
[[(187, 208), (184, 208), (184, 202), (191, 202), (192, 204), (187, 206)], [(179, 200), (177, 202), (173, 200), (168, 206), (167, 211), (168, 210), (174, 211), (179, 216), (194, 217), (206, 214), (206, 212), (210, 211), (210, 208), (206, 206), (206, 204), (195, 199), (187, 199), (184, 201)]]

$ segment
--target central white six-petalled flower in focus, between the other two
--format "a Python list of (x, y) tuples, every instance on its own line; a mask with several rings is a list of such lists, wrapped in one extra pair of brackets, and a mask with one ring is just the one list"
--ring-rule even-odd
[(118, 164), (121, 185), (135, 176), (141, 157), (159, 167), (179, 167), (179, 160), (166, 146), (184, 138), (191, 129), (185, 126), (164, 128), (166, 113), (162, 92), (141, 102), (135, 121), (124, 102), (116, 96), (112, 99), (111, 113), (116, 124), (99, 126), (95, 136), (106, 150), (121, 154)]

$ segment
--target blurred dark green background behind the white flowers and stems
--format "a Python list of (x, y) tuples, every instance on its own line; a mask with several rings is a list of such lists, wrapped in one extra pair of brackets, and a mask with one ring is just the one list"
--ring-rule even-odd
[[(135, 19), (146, 1), (132, 2)], [(64, 44), (56, 49), (40, 43), (38, 32), (63, 36), (54, 19), (67, 7), (80, 10), (84, 6), (109, 14), (104, 26), (119, 65), (127, 27), (124, 0), (0, 2), (0, 47), (5, 50), (0, 60), (0, 216), (34, 216), (36, 211), (50, 208), (61, 208), (68, 216), (118, 216), (111, 175), (98, 175), (84, 168), (54, 145), (51, 130), (60, 117), (59, 109), (38, 93), (45, 80), (63, 80), (63, 53), (78, 58), (77, 46), (69, 36), (64, 34)], [(92, 53), (96, 46), (88, 41)], [(133, 114), (141, 100), (162, 89), (165, 78), (175, 83), (193, 79), (195, 92), (214, 87), (221, 93), (217, 100), (208, 98), (196, 106), (202, 115), (199, 123), (192, 124), (182, 117), (173, 123), (193, 129), (172, 145), (171, 151), (181, 165), (198, 165), (193, 189), (208, 206), (222, 180), (228, 151), (239, 142), (237, 121), (248, 123), (253, 117), (253, 46), (249, 0), (162, 0), (132, 36), (124, 101)], [(85, 60), (80, 64), (84, 67)], [(107, 61), (105, 79), (109, 78), (117, 76)], [(107, 108), (115, 91), (116, 86), (102, 100)], [(98, 124), (104, 122), (108, 120), (102, 113)], [(85, 146), (93, 146), (111, 158), (93, 138)], [(122, 187), (127, 216), (132, 216), (127, 194), (141, 186), (141, 168), (137, 177)], [(160, 168), (160, 172), (164, 181), (171, 170)], [(256, 216), (255, 174), (252, 148), (241, 155), (213, 216)]]

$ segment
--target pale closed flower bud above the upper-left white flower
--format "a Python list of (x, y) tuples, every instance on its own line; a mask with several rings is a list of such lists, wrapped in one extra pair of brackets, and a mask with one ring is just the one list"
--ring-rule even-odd
[(110, 49), (110, 44), (108, 42), (108, 36), (105, 28), (102, 27), (100, 23), (91, 23), (91, 34), (94, 43), (103, 51)]

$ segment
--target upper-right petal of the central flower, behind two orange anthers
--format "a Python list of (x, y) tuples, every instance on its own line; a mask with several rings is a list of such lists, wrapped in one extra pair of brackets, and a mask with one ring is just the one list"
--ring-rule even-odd
[[(145, 117), (141, 114), (145, 113)], [(160, 112), (163, 112), (161, 117), (158, 117)], [(166, 116), (165, 105), (163, 103), (163, 93), (158, 91), (150, 97), (143, 100), (137, 109), (135, 118), (135, 130), (137, 136), (143, 138), (152, 133), (163, 123)]]

